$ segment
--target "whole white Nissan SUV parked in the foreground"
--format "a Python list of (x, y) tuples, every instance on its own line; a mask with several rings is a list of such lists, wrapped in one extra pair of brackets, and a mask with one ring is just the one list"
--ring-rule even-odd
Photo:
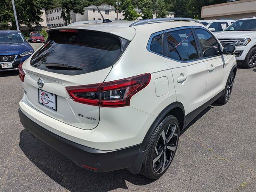
[(230, 98), (235, 47), (185, 18), (72, 24), (23, 65), (20, 121), (78, 166), (162, 176), (180, 130)]

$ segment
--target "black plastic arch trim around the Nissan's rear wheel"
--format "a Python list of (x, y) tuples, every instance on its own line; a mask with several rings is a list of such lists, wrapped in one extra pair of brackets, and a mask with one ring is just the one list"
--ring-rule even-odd
[(154, 122), (151, 124), (150, 128), (148, 129), (148, 132), (146, 133), (146, 136), (144, 137), (144, 139), (140, 145), (139, 155), (138, 155), (138, 158), (137, 158), (134, 166), (127, 168), (127, 170), (129, 172), (131, 172), (133, 174), (140, 173), (140, 170), (142, 168), (144, 153), (146, 151), (148, 142), (149, 142), (150, 138), (152, 137), (152, 134), (154, 133), (156, 126), (158, 126), (158, 124), (160, 124), (162, 119), (174, 108), (180, 108), (182, 110), (182, 112), (183, 112), (183, 127), (180, 128), (180, 130), (182, 130), (184, 128), (184, 126), (186, 124), (185, 116), (184, 116), (184, 114), (185, 114), (184, 106), (180, 102), (173, 102), (172, 104), (170, 104), (166, 108), (164, 108), (164, 110), (162, 110), (162, 112), (160, 112), (160, 114), (156, 117)]

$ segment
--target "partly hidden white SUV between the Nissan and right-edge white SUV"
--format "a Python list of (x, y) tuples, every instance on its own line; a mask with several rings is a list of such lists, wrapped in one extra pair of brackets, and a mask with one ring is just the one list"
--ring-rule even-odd
[(198, 20), (212, 32), (223, 31), (236, 20), (232, 19), (214, 19), (214, 20)]

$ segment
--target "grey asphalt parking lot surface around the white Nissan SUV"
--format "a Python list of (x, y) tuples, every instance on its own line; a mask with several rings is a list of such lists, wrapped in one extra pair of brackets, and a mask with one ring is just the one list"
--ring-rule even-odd
[(238, 69), (229, 102), (196, 117), (180, 136), (170, 168), (155, 181), (126, 170), (90, 172), (50, 150), (20, 124), (18, 73), (0, 76), (1, 192), (256, 190), (256, 68)]

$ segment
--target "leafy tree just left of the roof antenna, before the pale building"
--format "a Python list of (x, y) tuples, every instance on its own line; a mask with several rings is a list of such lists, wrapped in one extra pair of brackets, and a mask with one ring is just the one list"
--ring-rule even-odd
[(67, 24), (70, 24), (72, 18), (70, 12), (84, 14), (84, 7), (90, 3), (87, 0), (59, 0), (62, 9), (61, 15)]

